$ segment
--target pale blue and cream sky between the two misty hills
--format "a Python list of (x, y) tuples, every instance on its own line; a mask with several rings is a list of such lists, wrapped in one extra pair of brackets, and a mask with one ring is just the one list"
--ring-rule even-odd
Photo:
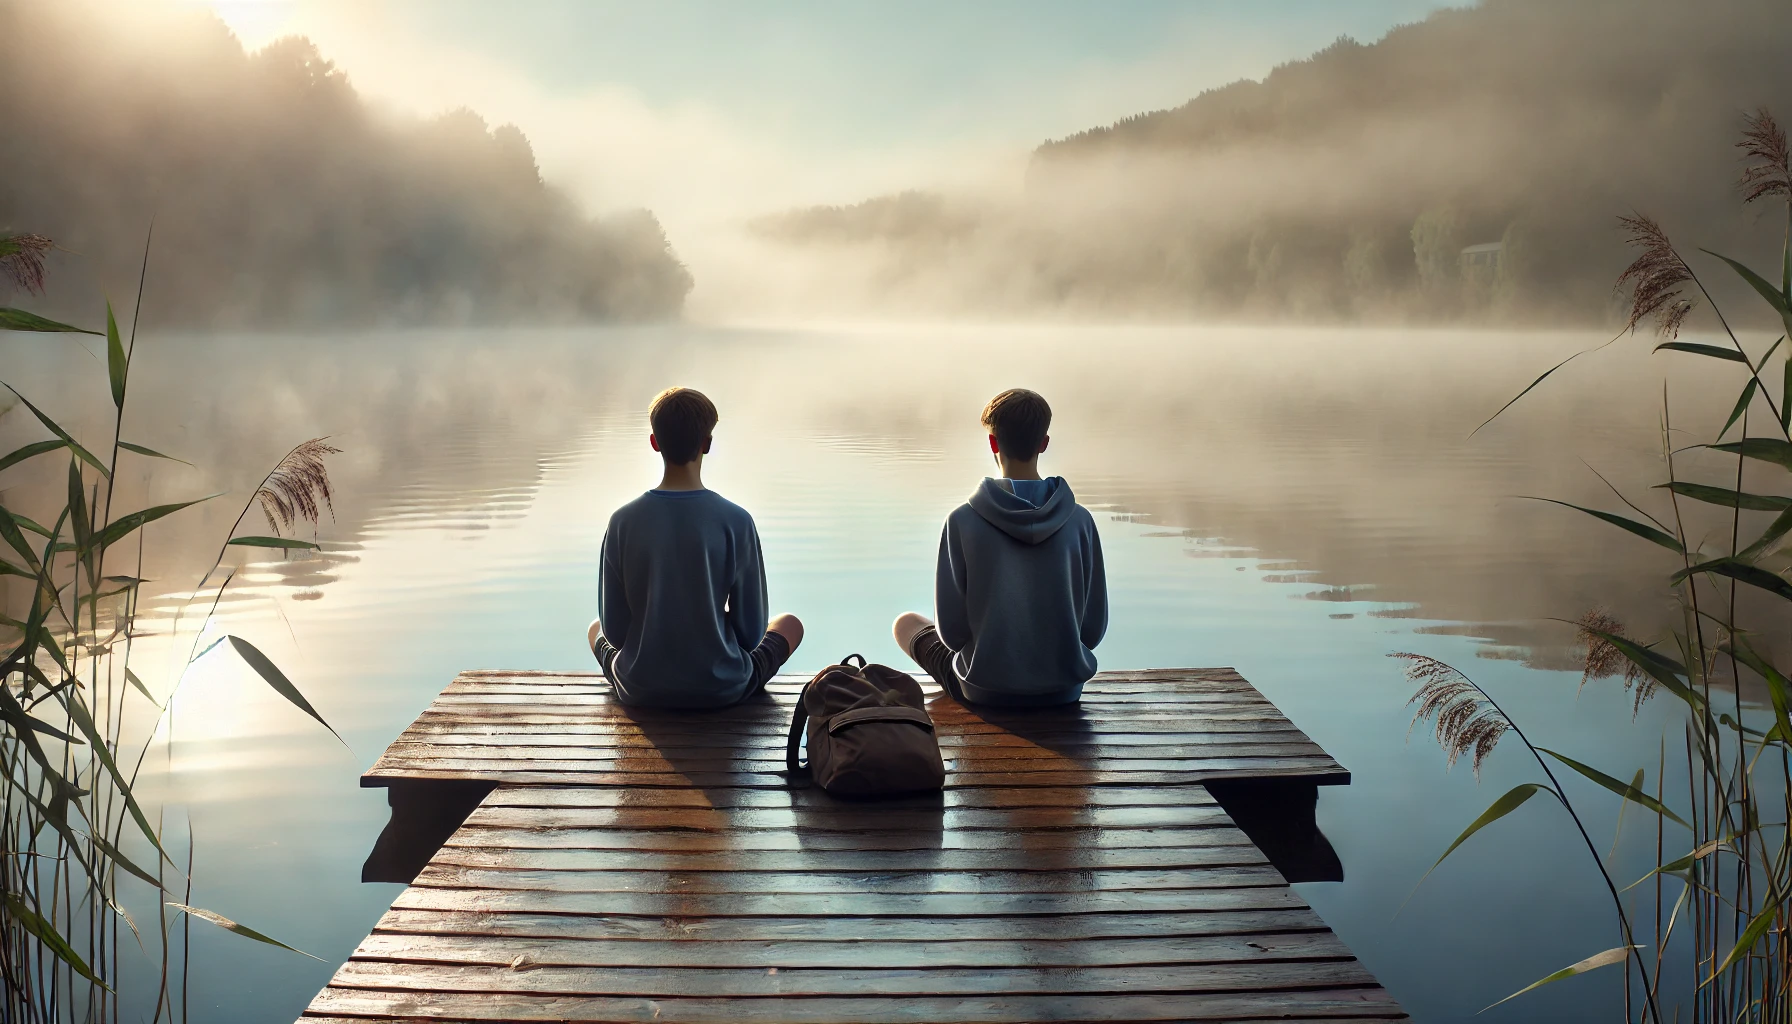
[[(1437, 0), (186, 0), (303, 34), (364, 97), (516, 124), (593, 213), (694, 267), (726, 228), (901, 188), (1002, 187), (1047, 138), (1262, 77)], [(699, 274), (702, 280), (702, 274)]]

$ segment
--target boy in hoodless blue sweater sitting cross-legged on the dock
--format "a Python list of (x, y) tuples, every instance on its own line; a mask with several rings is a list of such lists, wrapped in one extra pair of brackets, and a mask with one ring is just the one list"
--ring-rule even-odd
[(665, 473), (658, 488), (609, 516), (599, 619), (586, 642), (625, 705), (740, 703), (803, 642), (803, 622), (796, 615), (767, 620), (753, 516), (702, 486), (715, 404), (690, 387), (668, 387), (647, 420), (647, 443)]

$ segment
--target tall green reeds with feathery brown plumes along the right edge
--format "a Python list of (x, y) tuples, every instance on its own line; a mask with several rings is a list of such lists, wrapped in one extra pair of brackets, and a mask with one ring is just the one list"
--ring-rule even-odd
[[(1656, 764), (1624, 780), (1536, 746), (1521, 723), (1455, 667), (1421, 655), (1396, 655), (1407, 660), (1409, 678), (1419, 683), (1412, 698), (1417, 703), (1414, 723), (1435, 728), (1452, 762), (1468, 755), (1478, 771), (1487, 753), (1505, 735), (1514, 735), (1541, 775), (1539, 782), (1521, 784), (1495, 800), (1439, 863), (1532, 796), (1546, 796), (1568, 812), (1611, 895), (1616, 945), (1514, 997), (1622, 963), (1627, 970), (1625, 1019), (1650, 1024), (1792, 1020), (1792, 834), (1787, 829), (1792, 820), (1792, 665), (1776, 664), (1792, 649), (1787, 644), (1792, 581), (1779, 552), (1792, 533), (1792, 481), (1785, 477), (1792, 470), (1792, 360), (1785, 350), (1792, 335), (1792, 149), (1767, 111), (1745, 118), (1738, 147), (1745, 156), (1742, 201), (1785, 206), (1779, 280), (1769, 282), (1719, 253), (1688, 253), (1641, 213), (1620, 219), (1636, 260), (1618, 276), (1620, 289), (1631, 294), (1625, 334), (1652, 328), (1659, 339), (1656, 351), (1715, 360), (1735, 371), (1738, 393), (1724, 427), (1692, 445), (1731, 456), (1731, 468), (1713, 481), (1679, 475), (1688, 448), (1676, 447), (1681, 434), (1663, 393), (1667, 473), (1658, 484), (1659, 515), (1616, 491), (1624, 511), (1557, 502), (1667, 549), (1677, 561), (1661, 579), (1663, 595), (1679, 610), (1677, 628), (1663, 637), (1631, 637), (1609, 615), (1591, 612), (1575, 631), (1586, 651), (1582, 685), (1620, 680), (1634, 694), (1636, 707), (1665, 694), (1684, 712), (1677, 716), (1679, 735), (1663, 737)], [(1785, 334), (1765, 350), (1751, 351), (1706, 289), (1699, 273), (1706, 264), (1740, 276), (1770, 307)], [(1711, 319), (1719, 344), (1679, 339), (1695, 316)], [(1564, 364), (1538, 377), (1512, 402)], [(1770, 466), (1772, 486), (1745, 490), (1749, 468), (1756, 468), (1753, 477), (1762, 477), (1765, 466)], [(1717, 542), (1702, 540), (1710, 534), (1688, 525), (1695, 506), (1720, 509), (1724, 529), (1715, 533)], [(1774, 515), (1763, 524), (1744, 513)], [(1684, 757), (1684, 793), (1677, 782), (1672, 793), (1665, 784), (1668, 742), (1681, 748), (1674, 751), (1676, 760)], [(1559, 769), (1598, 784), (1652, 818), (1654, 870), (1634, 881), (1613, 877), (1588, 836), (1581, 809), (1555, 775)], [(1638, 897), (1652, 900), (1638, 911)], [(1665, 988), (1663, 977), (1674, 983)]]

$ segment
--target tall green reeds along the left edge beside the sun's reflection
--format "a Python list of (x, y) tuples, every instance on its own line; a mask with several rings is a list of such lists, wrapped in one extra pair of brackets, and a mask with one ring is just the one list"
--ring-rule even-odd
[[(0, 280), (41, 294), (50, 247), (50, 240), (38, 235), (0, 235)], [(142, 282), (138, 292), (142, 298)], [(43, 404), (0, 380), (18, 404), (13, 414), (32, 416), (45, 434), (41, 441), (0, 456), (0, 473), (38, 459), (68, 461), (66, 488), (56, 486), (50, 495), (43, 488), (29, 490), (38, 499), (30, 508), (34, 515), (16, 500), (0, 500), (0, 577), (23, 583), (22, 601), (0, 603), (0, 777), (5, 789), (0, 796), (0, 1020), (185, 1019), (186, 929), (194, 918), (285, 947), (219, 913), (188, 906), (190, 830), (185, 857), (177, 859), (181, 845), (170, 848), (159, 809), (140, 800), (138, 773), (158, 735), (158, 728), (143, 728), (143, 723), (172, 726), (168, 708), (172, 690), (179, 689), (176, 678), (170, 692), (158, 699), (133, 669), (145, 583), (145, 527), (220, 495), (131, 511), (115, 508), (122, 461), (159, 464), (172, 459), (125, 434), (134, 316), (125, 337), (109, 305), (104, 332), (0, 307), (0, 330), (102, 337), (111, 427), (109, 447), (95, 454)], [(315, 547), (281, 536), (281, 527), (315, 524), (319, 509), (328, 508), (330, 477), (323, 457), (333, 452), (321, 439), (299, 445), (244, 504), (197, 586), (210, 595), (206, 620), (231, 583), (233, 572), (224, 561), (233, 547)], [(267, 513), (269, 534), (235, 536), (256, 504)], [(204, 633), (202, 624), (199, 631)], [(323, 723), (274, 662), (240, 637), (226, 635), (195, 649), (186, 664), (220, 644)], [(161, 728), (159, 735), (168, 742), (172, 728)], [(127, 911), (127, 906), (142, 907), (145, 895), (156, 906), (151, 922), (134, 920)], [(179, 956), (176, 945), (183, 950)], [(151, 974), (159, 981), (152, 990), (122, 992), (120, 959), (138, 954), (149, 958)]]

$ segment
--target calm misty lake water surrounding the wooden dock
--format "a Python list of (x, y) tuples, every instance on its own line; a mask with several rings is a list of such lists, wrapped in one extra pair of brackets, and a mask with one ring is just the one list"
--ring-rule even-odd
[[(165, 608), (290, 445), (328, 434), (344, 448), (324, 552), (251, 565), (222, 615), (349, 750), (240, 665), (208, 658), (181, 692), (172, 755), (152, 760), (170, 832), (192, 821), (192, 902), (328, 963), (195, 927), (194, 1019), (290, 1020), (400, 891), (358, 881), (387, 809), (357, 777), (457, 671), (591, 667), (582, 637), (604, 520), (658, 479), (647, 400), (686, 384), (722, 411), (710, 486), (754, 513), (772, 603), (808, 624), (792, 671), (851, 651), (903, 664), (889, 620), (928, 608), (941, 518), (989, 472), (982, 402), (1043, 391), (1057, 414), (1045, 466), (1097, 511), (1107, 552), (1102, 665), (1236, 665), (1342, 760), (1355, 784), (1322, 793), (1319, 820), (1346, 881), (1299, 888), (1419, 1020), (1468, 1020), (1616, 945), (1615, 925), (1566, 820), (1541, 803), (1414, 893), (1450, 839), (1536, 768), (1507, 746), (1480, 784), (1466, 766), (1446, 775), (1426, 735), (1409, 742), (1410, 685), (1387, 655), (1448, 658), (1541, 744), (1652, 775), (1670, 708), (1633, 723), (1616, 687), (1577, 692), (1566, 629), (1548, 619), (1604, 604), (1647, 633), (1667, 617), (1650, 590), (1663, 565), (1518, 495), (1613, 504), (1588, 464), (1643, 493), (1659, 473), (1668, 364), (1640, 341), (1613, 346), (1468, 438), (1541, 368), (1598, 341), (690, 326), (145, 337), (127, 439), (201, 468), (133, 481), (136, 499), (231, 491), (154, 527), (147, 576), (168, 590)], [(104, 369), (79, 348), (9, 339), (0, 360), (72, 421), (104, 407)], [(1674, 402), (1676, 425), (1699, 430), (1727, 412), (1710, 382), (1676, 386)], [(32, 430), (18, 412), (0, 418), (0, 441)], [(27, 500), (34, 481), (7, 484)], [(168, 644), (163, 615), (140, 647), (151, 685), (167, 690), (190, 628)], [(1613, 836), (1613, 802), (1584, 789)], [(1618, 875), (1649, 866), (1643, 839), (1616, 843)], [(1478, 1020), (1609, 1013), (1618, 979), (1572, 979)]]

